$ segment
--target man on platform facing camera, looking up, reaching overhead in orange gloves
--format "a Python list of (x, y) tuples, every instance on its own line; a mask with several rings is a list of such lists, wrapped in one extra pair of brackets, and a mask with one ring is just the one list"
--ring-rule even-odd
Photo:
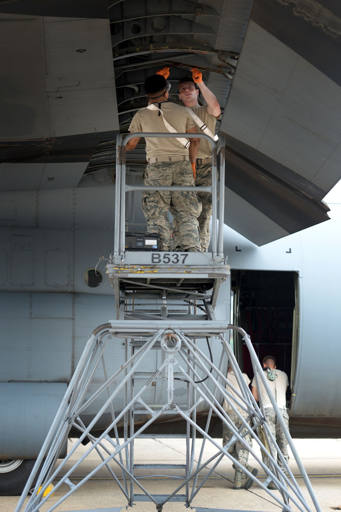
[[(198, 68), (192, 68), (192, 76), (186, 76), (179, 80), (178, 92), (179, 98), (188, 110), (193, 112), (193, 120), (196, 122), (197, 133), (210, 132), (207, 135), (214, 138), (215, 123), (220, 119), (221, 108), (218, 100), (214, 94), (205, 86), (203, 82), (203, 75)], [(167, 78), (169, 75), (169, 68), (166, 66), (157, 72)], [(202, 93), (207, 104), (199, 105), (198, 94), (199, 90)], [(192, 167), (194, 167), (192, 165)], [(211, 144), (205, 140), (200, 139), (200, 146), (198, 157), (196, 160), (195, 169), (193, 173), (196, 181), (196, 186), (208, 186), (212, 184), (212, 147)], [(202, 203), (202, 212), (198, 217), (200, 228), (200, 244), (202, 251), (207, 250), (210, 242), (210, 221), (212, 215), (212, 195), (205, 192), (198, 192), (198, 198)], [(174, 248), (177, 250), (178, 245), (178, 228), (175, 222), (175, 229), (173, 231)]]

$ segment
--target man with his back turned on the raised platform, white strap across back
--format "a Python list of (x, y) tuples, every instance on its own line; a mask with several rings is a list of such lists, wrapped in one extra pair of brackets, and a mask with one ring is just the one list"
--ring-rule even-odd
[[(197, 133), (195, 123), (183, 106), (167, 102), (168, 84), (160, 75), (150, 76), (144, 83), (150, 104), (134, 116), (129, 131)], [(134, 137), (126, 145), (133, 150), (139, 141)], [(198, 154), (197, 138), (145, 137), (148, 165), (145, 168), (144, 184), (149, 186), (194, 186), (191, 162)], [(201, 203), (193, 192), (151, 191), (142, 194), (142, 208), (147, 219), (148, 232), (159, 232), (160, 250), (169, 251), (171, 228), (167, 214), (172, 207), (173, 217), (179, 226), (181, 251), (200, 252), (200, 234), (197, 217)]]

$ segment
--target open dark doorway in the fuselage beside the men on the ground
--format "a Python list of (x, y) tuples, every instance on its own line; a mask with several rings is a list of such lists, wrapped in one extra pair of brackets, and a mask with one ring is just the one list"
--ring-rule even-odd
[[(250, 334), (260, 361), (276, 357), (294, 388), (299, 339), (299, 277), (297, 272), (231, 270), (233, 324)], [(234, 333), (234, 353), (242, 368), (253, 377), (251, 359), (241, 336)], [(286, 396), (290, 401), (290, 390)]]

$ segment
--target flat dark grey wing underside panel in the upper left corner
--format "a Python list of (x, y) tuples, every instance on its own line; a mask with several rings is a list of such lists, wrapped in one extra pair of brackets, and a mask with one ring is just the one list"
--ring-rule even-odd
[(108, 3), (16, 4), (0, 8), (1, 161), (77, 168), (118, 132)]

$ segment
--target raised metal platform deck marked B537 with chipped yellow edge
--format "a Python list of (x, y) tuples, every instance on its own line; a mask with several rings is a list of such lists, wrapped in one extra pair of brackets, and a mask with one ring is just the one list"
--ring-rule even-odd
[[(220, 286), (230, 275), (226, 259), (208, 252), (127, 252), (124, 259), (115, 258), (121, 263), (109, 262), (107, 274), (115, 291), (117, 318), (124, 317), (122, 307), (129, 299), (160, 299), (168, 305), (179, 300), (205, 305), (206, 300), (214, 309)], [(179, 263), (170, 265), (169, 261)], [(153, 311), (148, 313), (153, 315)]]

